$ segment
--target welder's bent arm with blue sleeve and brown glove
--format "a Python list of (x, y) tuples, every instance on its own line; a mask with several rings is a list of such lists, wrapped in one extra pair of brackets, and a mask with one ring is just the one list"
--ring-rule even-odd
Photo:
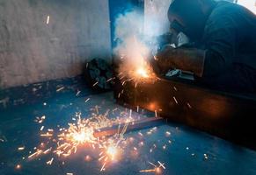
[(216, 77), (228, 70), (236, 52), (236, 24), (232, 18), (214, 18), (205, 28), (206, 50), (166, 47), (155, 65), (162, 73), (171, 68), (193, 72), (198, 77)]

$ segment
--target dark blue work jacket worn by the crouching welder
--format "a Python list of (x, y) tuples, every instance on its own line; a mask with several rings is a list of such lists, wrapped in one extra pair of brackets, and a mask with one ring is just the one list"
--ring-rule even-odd
[(217, 3), (201, 45), (206, 50), (203, 82), (256, 92), (256, 16), (251, 11), (238, 4)]

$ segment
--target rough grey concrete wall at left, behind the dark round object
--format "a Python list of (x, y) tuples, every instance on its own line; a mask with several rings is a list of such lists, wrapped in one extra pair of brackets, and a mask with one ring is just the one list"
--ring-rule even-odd
[(0, 0), (0, 11), (0, 88), (72, 77), (110, 56), (107, 0)]

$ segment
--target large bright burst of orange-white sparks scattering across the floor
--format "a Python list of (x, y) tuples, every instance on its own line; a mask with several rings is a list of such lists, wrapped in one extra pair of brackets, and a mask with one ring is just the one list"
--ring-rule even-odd
[[(128, 124), (133, 123), (135, 119), (132, 116), (132, 111), (121, 111), (116, 118), (108, 118), (109, 110), (106, 113), (100, 114), (100, 107), (95, 106), (91, 109), (91, 116), (82, 118), (81, 113), (76, 113), (76, 117), (72, 117), (73, 123), (68, 123), (69, 128), (60, 128), (56, 132), (53, 129), (47, 129), (46, 132), (40, 133), (40, 137), (47, 139), (47, 142), (41, 143), (40, 146), (34, 147), (34, 152), (27, 157), (29, 159), (37, 158), (41, 155), (50, 152), (58, 157), (67, 158), (72, 154), (77, 153), (79, 148), (99, 149), (99, 162), (102, 164), (100, 171), (104, 171), (106, 166), (112, 161), (118, 161), (121, 158), (121, 153), (126, 147), (126, 138), (124, 134), (128, 129)], [(116, 112), (117, 109), (113, 109)], [(43, 117), (45, 119), (45, 117)], [(40, 121), (41, 117), (37, 118)], [(112, 137), (102, 137), (95, 135), (103, 128), (118, 125), (118, 131)], [(44, 126), (40, 127), (40, 131)], [(22, 148), (18, 148), (21, 150)], [(91, 157), (84, 157), (85, 161), (90, 161)], [(46, 162), (47, 165), (52, 165), (54, 158)]]

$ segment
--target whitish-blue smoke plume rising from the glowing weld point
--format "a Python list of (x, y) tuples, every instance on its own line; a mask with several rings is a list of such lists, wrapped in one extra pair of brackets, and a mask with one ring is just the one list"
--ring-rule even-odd
[(154, 47), (152, 44), (156, 43), (154, 39), (169, 29), (169, 24), (166, 27), (166, 21), (168, 21), (167, 10), (171, 1), (166, 0), (165, 4), (158, 2), (163, 6), (155, 6), (151, 1), (146, 0), (143, 13), (128, 11), (116, 18), (114, 38), (117, 46), (114, 48), (114, 53), (121, 58), (119, 72), (133, 78), (134, 74), (131, 72), (146, 66), (145, 59), (151, 57), (150, 52)]

